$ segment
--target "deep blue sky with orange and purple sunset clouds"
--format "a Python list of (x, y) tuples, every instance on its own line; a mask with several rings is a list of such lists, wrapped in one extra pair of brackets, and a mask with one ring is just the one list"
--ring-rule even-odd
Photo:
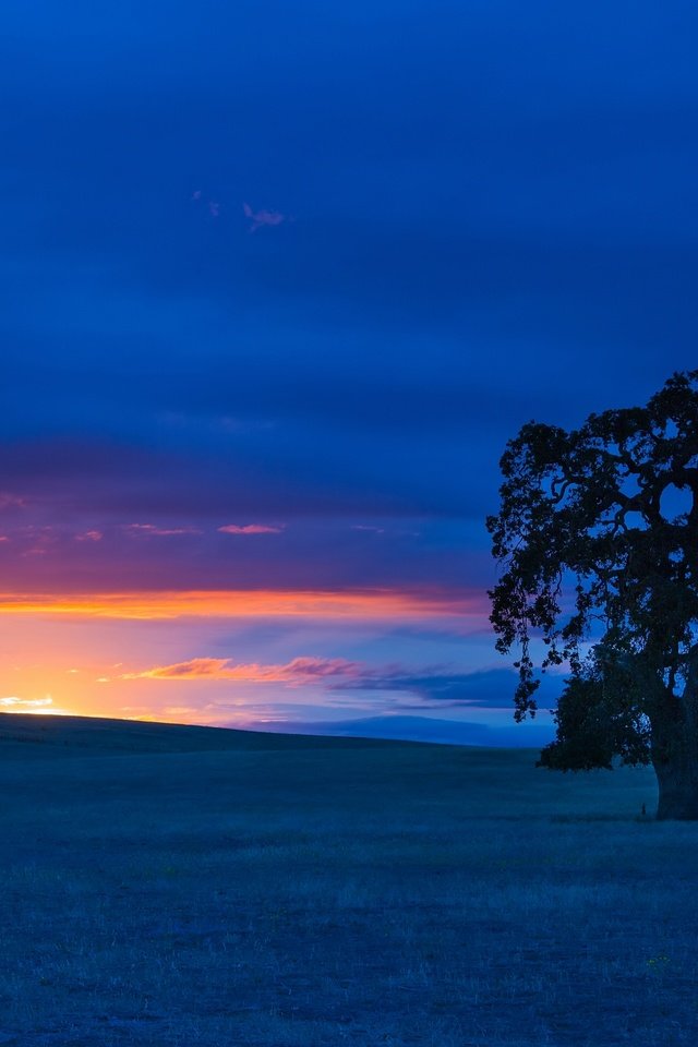
[(695, 3), (0, 27), (0, 709), (509, 725), (506, 441), (696, 366)]

